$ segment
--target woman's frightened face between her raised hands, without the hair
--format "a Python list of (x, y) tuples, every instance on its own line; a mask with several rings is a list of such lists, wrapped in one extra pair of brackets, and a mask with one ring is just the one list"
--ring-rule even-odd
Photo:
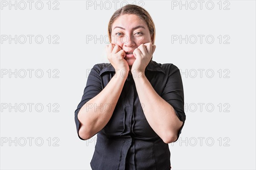
[[(126, 53), (125, 60), (132, 66), (136, 58), (132, 54), (140, 44), (151, 41), (147, 24), (135, 14), (119, 16), (112, 25), (111, 43), (119, 45)], [(131, 52), (131, 54), (127, 54)]]

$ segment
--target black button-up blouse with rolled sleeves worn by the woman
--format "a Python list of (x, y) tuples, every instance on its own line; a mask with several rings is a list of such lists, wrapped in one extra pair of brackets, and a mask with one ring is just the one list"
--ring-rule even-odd
[[(95, 97), (115, 75), (111, 63), (93, 66), (87, 79), (84, 95), (75, 111)], [(186, 120), (183, 84), (177, 66), (150, 61), (145, 76), (154, 90), (172, 105), (180, 121)], [(156, 113), (157, 114), (157, 113)], [(183, 128), (180, 128), (178, 137)], [(82, 139), (79, 136), (80, 139)], [(83, 140), (83, 139), (82, 139)], [(176, 140), (177, 141), (177, 140)], [(169, 145), (154, 132), (143, 112), (132, 75), (128, 75), (113, 115), (108, 124), (97, 133), (97, 142), (90, 162), (93, 170), (170, 170)]]

